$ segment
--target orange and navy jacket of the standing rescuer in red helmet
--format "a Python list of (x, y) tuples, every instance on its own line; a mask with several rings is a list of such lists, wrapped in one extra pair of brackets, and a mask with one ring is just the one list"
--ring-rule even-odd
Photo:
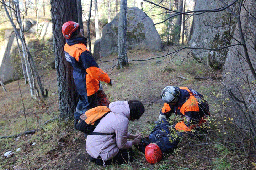
[(99, 80), (109, 83), (110, 78), (98, 67), (85, 45), (86, 40), (84, 38), (78, 37), (66, 41), (64, 46), (65, 58), (74, 69), (73, 78), (78, 93), (85, 96), (95, 94), (99, 89)]

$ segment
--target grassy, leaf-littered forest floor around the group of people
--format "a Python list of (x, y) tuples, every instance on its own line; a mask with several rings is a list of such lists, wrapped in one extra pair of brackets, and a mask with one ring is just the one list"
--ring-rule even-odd
[[(166, 52), (136, 50), (128, 52), (128, 59), (147, 60), (164, 55)], [(142, 117), (129, 124), (129, 131), (133, 134), (140, 132), (143, 136), (148, 136), (154, 128), (153, 122), (158, 119), (159, 110), (164, 104), (160, 94), (165, 86), (191, 87), (203, 94), (208, 101), (212, 115), (210, 129), (205, 133), (186, 134), (179, 147), (173, 153), (164, 155), (161, 162), (151, 165), (146, 162), (145, 155), (135, 152), (133, 162), (106, 167), (97, 166), (90, 162), (89, 154), (86, 152), (86, 138), (81, 132), (73, 130), (73, 119), (64, 122), (57, 119), (44, 124), (47, 120), (58, 116), (57, 77), (56, 71), (51, 70), (42, 78), (49, 91), (49, 97), (46, 99), (31, 98), (28, 85), (24, 84), (22, 79), (6, 84), (7, 93), (1, 89), (0, 136), (16, 135), (37, 128), (39, 131), (0, 139), (0, 170), (220, 170), (221, 167), (253, 169), (255, 157), (251, 154), (245, 157), (237, 143), (231, 142), (233, 147), (225, 145), (224, 141), (235, 141), (235, 138), (232, 132), (224, 134), (221, 131), (224, 124), (218, 124), (223, 119), (220, 70), (213, 70), (191, 59), (181, 62), (182, 56), (186, 56), (186, 52), (147, 61), (130, 61), (129, 66), (123, 70), (114, 67), (117, 63), (117, 60), (114, 60), (117, 55), (102, 59), (112, 60), (111, 62), (98, 61), (99, 66), (107, 71), (113, 80), (112, 87), (102, 83), (110, 102), (138, 99), (145, 106)], [(232, 129), (230, 124), (232, 123), (225, 123), (226, 131)], [(4, 153), (7, 151), (13, 151), (13, 154), (5, 157)]]

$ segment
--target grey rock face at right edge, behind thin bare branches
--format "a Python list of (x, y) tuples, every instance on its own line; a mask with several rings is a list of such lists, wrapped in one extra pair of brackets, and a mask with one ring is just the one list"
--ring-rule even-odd
[[(256, 2), (254, 0), (245, 1), (244, 8), (241, 10), (241, 28), (244, 34), (245, 43), (248, 51), (250, 61), (254, 70), (256, 69), (256, 45), (255, 45), (255, 34), (256, 34), (256, 20), (250, 19), (248, 11), (250, 11), (251, 16), (256, 15)], [(234, 39), (231, 45), (239, 44), (241, 41), (238, 26), (236, 26), (234, 32)], [(241, 101), (245, 101), (248, 110), (256, 110), (256, 80), (251, 73), (248, 63), (245, 59), (245, 52), (242, 45), (233, 46), (229, 48), (226, 62), (223, 67), (223, 81), (227, 88), (230, 88), (233, 94)], [(239, 103), (239, 102), (238, 102)], [(241, 104), (241, 103), (240, 103)], [(243, 104), (241, 104), (243, 106)], [(233, 105), (235, 106), (235, 105)], [(246, 111), (247, 114), (247, 111)], [(256, 115), (251, 115), (253, 120), (256, 119)], [(254, 121), (255, 123), (255, 121)]]

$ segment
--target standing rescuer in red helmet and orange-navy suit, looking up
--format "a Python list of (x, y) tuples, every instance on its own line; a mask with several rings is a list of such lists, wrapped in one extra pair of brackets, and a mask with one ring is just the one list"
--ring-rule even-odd
[(74, 113), (74, 129), (81, 114), (97, 107), (97, 91), (100, 89), (100, 81), (112, 86), (112, 80), (108, 77), (92, 57), (87, 49), (87, 38), (82, 34), (78, 23), (74, 21), (65, 22), (62, 26), (63, 36), (66, 38), (64, 52), (66, 61), (73, 67), (73, 78), (78, 91), (79, 101)]

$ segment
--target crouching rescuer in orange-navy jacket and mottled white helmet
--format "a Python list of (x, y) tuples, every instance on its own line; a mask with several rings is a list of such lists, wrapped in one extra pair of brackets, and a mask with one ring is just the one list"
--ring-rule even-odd
[(159, 120), (169, 118), (172, 113), (185, 117), (174, 125), (178, 131), (191, 131), (204, 123), (207, 115), (210, 115), (207, 101), (193, 89), (167, 86), (163, 89), (161, 98), (165, 103), (160, 110)]

